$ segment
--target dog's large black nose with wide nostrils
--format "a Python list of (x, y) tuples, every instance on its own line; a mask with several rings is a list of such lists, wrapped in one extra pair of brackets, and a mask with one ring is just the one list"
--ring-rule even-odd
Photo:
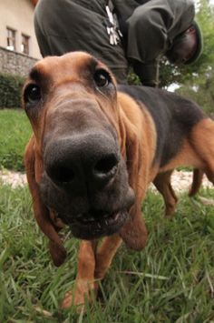
[(98, 188), (116, 174), (118, 148), (105, 134), (75, 135), (52, 142), (44, 151), (45, 171), (57, 186)]

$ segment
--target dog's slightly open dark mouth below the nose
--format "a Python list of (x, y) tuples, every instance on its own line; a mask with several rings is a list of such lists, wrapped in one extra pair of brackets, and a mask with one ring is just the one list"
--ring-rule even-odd
[(71, 228), (74, 237), (91, 240), (94, 238), (111, 236), (120, 230), (124, 222), (129, 217), (126, 210), (119, 211), (113, 214), (80, 214), (68, 221), (67, 224)]

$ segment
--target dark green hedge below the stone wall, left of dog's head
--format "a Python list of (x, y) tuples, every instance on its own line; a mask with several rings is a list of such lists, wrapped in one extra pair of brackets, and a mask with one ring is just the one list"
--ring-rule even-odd
[(24, 77), (0, 73), (0, 108), (20, 107)]

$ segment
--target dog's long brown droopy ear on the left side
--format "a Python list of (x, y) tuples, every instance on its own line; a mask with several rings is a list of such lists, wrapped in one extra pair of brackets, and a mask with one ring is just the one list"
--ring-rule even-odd
[(29, 144), (26, 146), (24, 154), (24, 165), (30, 192), (33, 199), (34, 217), (38, 226), (44, 232), (44, 235), (49, 238), (49, 249), (53, 258), (53, 264), (60, 266), (66, 257), (66, 250), (63, 247), (63, 242), (59, 237), (53, 220), (50, 217), (50, 211), (44, 206), (41, 200), (39, 187), (35, 178), (40, 177), (42, 173), (42, 162), (38, 161), (39, 157), (35, 152), (35, 139), (34, 136), (30, 139)]

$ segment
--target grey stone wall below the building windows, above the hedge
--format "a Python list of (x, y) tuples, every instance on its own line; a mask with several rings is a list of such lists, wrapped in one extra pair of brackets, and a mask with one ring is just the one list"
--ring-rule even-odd
[(0, 46), (0, 72), (27, 76), (37, 60)]

